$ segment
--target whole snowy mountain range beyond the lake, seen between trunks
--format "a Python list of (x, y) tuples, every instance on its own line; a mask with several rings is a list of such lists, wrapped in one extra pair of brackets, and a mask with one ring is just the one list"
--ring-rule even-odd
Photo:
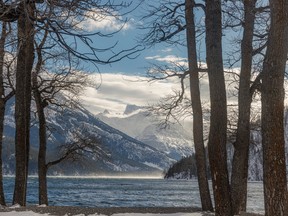
[[(168, 170), (176, 161), (194, 153), (191, 132), (187, 132), (180, 125), (162, 128), (157, 118), (151, 116), (145, 108), (136, 105), (127, 105), (121, 114), (112, 114), (109, 110), (105, 110), (95, 116), (83, 107), (65, 109), (61, 112), (51, 107), (46, 114), (50, 129), (48, 161), (59, 157), (60, 146), (73, 139), (75, 130), (85, 129), (89, 134), (100, 137), (101, 148), (107, 153), (104, 157), (89, 154), (75, 163), (63, 162), (49, 170), (49, 174), (52, 175), (161, 175), (163, 170)], [(285, 140), (288, 144), (287, 114), (284, 122)], [(7, 104), (5, 116), (3, 146), (5, 174), (14, 173), (14, 134), (14, 101), (11, 100)], [(227, 145), (227, 150), (228, 169), (231, 171), (233, 156), (231, 144)], [(31, 125), (31, 174), (37, 173), (37, 154), (38, 127), (37, 119), (34, 119)], [(260, 181), (263, 179), (263, 159), (259, 131), (251, 132), (249, 154), (249, 180)], [(177, 166), (181, 167), (181, 163), (180, 165), (177, 163)], [(181, 172), (174, 172), (177, 178), (181, 176), (195, 178), (194, 171), (182, 169)]]

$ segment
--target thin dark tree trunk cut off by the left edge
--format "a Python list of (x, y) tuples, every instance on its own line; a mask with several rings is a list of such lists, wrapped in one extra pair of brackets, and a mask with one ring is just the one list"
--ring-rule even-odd
[(5, 56), (5, 41), (6, 41), (6, 23), (2, 22), (2, 32), (0, 38), (0, 205), (6, 205), (5, 194), (3, 188), (3, 171), (2, 171), (2, 149), (3, 149), (3, 129), (5, 116), (5, 89), (4, 89), (4, 56)]

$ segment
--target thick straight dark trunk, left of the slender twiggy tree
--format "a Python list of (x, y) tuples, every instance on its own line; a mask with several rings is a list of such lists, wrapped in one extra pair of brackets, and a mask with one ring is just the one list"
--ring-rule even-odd
[(34, 3), (21, 3), (15, 92), (16, 176), (13, 204), (26, 205), (30, 145), (31, 71), (34, 62)]

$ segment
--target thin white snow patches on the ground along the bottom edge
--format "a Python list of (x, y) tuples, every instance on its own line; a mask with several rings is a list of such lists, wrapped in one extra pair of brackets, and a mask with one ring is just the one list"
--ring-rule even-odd
[[(34, 213), (32, 211), (22, 211), (22, 212), (0, 212), (1, 216), (53, 216), (51, 214), (39, 214), (39, 213)], [(121, 213), (121, 214), (113, 214), (113, 216), (203, 216), (202, 213), (173, 213), (173, 214), (150, 214), (150, 213)], [(207, 214), (206, 214), (207, 215)], [(212, 214), (211, 214), (212, 215)], [(85, 216), (84, 214), (79, 214), (77, 216)], [(93, 214), (89, 216), (104, 216), (104, 215), (98, 215), (98, 214)]]

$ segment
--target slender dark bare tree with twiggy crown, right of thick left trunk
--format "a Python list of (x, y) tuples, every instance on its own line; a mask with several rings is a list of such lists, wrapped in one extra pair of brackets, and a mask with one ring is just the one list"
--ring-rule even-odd
[[(72, 67), (74, 62), (68, 58), (65, 52), (50, 50), (49, 55), (44, 55), (44, 46), (47, 40), (48, 32), (43, 35), (42, 41), (36, 44), (37, 64), (32, 73), (32, 90), (36, 104), (38, 124), (39, 124), (39, 153), (38, 153), (38, 177), (39, 177), (39, 204), (48, 205), (47, 196), (47, 123), (45, 109), (50, 105), (65, 109), (69, 104), (76, 103), (80, 91), (87, 86), (87, 74), (77, 71)], [(45, 59), (47, 58), (47, 59)], [(49, 73), (49, 68), (45, 68), (45, 61), (64, 61), (70, 64), (70, 67), (64, 69), (58, 68), (57, 72)], [(76, 61), (78, 62), (78, 61)], [(77, 66), (77, 65), (76, 65)], [(54, 64), (55, 67), (55, 64)], [(64, 91), (66, 94), (64, 95)], [(69, 95), (69, 96), (68, 96)], [(75, 147), (75, 146), (74, 146)], [(72, 152), (67, 153), (70, 155)], [(66, 154), (66, 153), (65, 153)], [(67, 156), (66, 156), (67, 157)]]

